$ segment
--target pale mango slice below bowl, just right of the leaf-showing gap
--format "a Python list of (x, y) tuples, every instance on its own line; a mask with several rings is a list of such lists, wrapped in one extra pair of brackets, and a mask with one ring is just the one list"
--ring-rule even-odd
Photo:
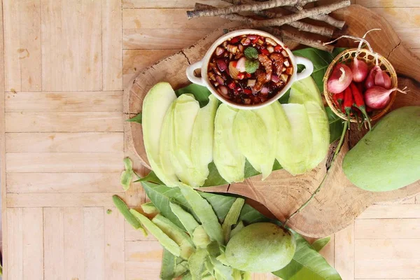
[(244, 181), (245, 156), (239, 151), (232, 132), (237, 113), (237, 109), (221, 104), (214, 120), (214, 165), (229, 183)]

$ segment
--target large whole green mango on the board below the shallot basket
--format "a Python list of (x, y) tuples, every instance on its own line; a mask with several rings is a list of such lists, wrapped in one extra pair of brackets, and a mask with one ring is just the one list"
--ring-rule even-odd
[(395, 190), (420, 179), (420, 106), (388, 113), (346, 154), (343, 170), (372, 192)]

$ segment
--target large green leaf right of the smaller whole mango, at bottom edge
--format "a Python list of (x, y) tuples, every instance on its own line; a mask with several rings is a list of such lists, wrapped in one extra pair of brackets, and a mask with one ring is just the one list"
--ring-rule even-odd
[(337, 270), (328, 265), (328, 262), (314, 250), (301, 235), (293, 232), (296, 239), (296, 253), (293, 260), (276, 272), (274, 275), (283, 280), (342, 280)]

